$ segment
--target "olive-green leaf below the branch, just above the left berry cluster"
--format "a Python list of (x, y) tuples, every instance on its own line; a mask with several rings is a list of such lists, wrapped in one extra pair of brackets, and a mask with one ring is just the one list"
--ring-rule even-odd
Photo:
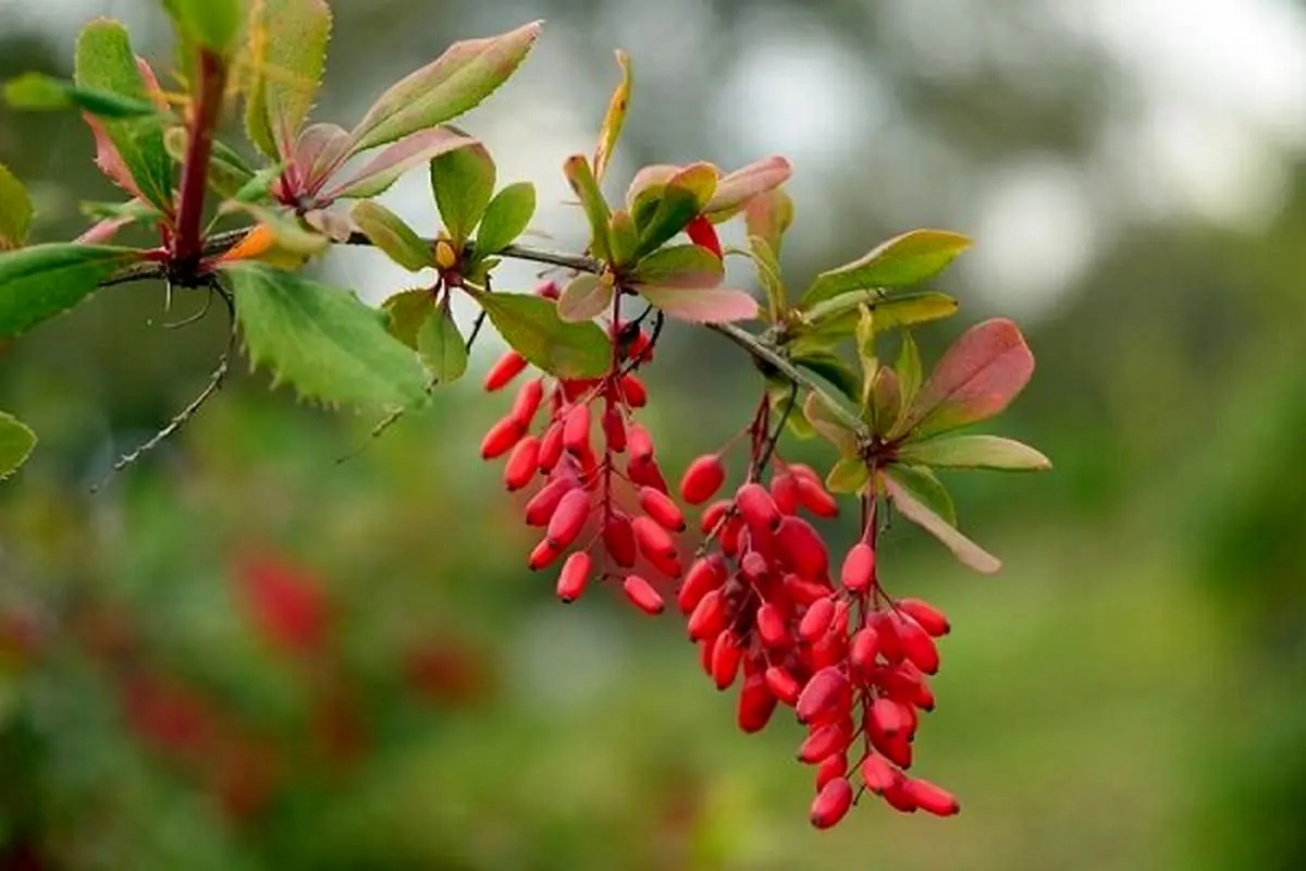
[(607, 372), (613, 346), (598, 324), (564, 323), (558, 307), (542, 296), (466, 290), (504, 341), (534, 367), (564, 379), (590, 379)]

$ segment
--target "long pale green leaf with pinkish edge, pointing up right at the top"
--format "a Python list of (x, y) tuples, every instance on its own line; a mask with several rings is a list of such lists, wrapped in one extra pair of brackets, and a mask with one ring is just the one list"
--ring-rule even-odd
[(431, 64), (393, 85), (351, 133), (351, 153), (435, 127), (477, 106), (521, 65), (539, 35), (535, 21), (499, 37), (449, 46)]

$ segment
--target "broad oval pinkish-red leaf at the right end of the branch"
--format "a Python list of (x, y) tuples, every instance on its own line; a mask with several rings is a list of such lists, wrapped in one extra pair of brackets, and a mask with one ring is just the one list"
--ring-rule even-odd
[(893, 435), (925, 437), (986, 420), (1000, 413), (1029, 383), (1034, 355), (1004, 317), (976, 324), (953, 342)]

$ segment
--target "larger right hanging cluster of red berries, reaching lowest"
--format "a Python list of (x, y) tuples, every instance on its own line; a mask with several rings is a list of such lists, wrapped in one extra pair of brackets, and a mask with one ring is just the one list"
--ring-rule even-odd
[[(905, 774), (919, 713), (934, 708), (927, 675), (939, 669), (934, 640), (948, 632), (947, 618), (883, 592), (874, 517), (835, 582), (825, 542), (799, 511), (828, 518), (838, 505), (810, 467), (777, 465), (769, 487), (750, 481), (703, 512), (710, 550), (691, 565), (677, 603), (704, 671), (718, 689), (743, 673), (738, 725), (746, 733), (763, 729), (777, 704), (795, 709), (807, 727), (798, 759), (816, 765), (812, 825), (828, 828), (848, 814), (855, 773), (863, 790), (899, 811), (956, 814), (949, 793)], [(721, 457), (699, 457), (680, 495), (704, 504), (724, 483)]]

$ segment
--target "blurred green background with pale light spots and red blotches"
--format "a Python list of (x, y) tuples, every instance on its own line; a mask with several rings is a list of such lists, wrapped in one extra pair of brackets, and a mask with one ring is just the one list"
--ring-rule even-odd
[[(901, 525), (883, 558), (953, 620), (917, 751), (963, 814), (871, 802), (811, 831), (795, 725), (738, 734), (674, 618), (559, 606), (478, 462), (505, 400), (477, 379), (337, 465), (370, 420), (242, 371), (89, 495), (223, 341), (218, 317), (162, 329), (162, 290), (132, 286), (0, 355), (0, 405), (42, 436), (0, 486), (0, 867), (1306, 867), (1306, 4), (334, 7), (316, 118), (346, 125), (449, 42), (547, 18), (466, 119), (539, 185), (547, 244), (580, 242), (559, 168), (616, 47), (614, 192), (649, 162), (786, 154), (793, 283), (914, 226), (977, 239), (942, 282), (963, 315), (921, 338), (1015, 316), (1038, 371), (993, 428), (1055, 470), (949, 482), (999, 576)], [(97, 14), (166, 67), (150, 3), (0, 0), (0, 77), (65, 72)], [(40, 239), (111, 196), (90, 157), (78, 119), (0, 108)], [(422, 174), (384, 201), (436, 226)], [(413, 281), (372, 252), (321, 270), (374, 300)], [(756, 384), (716, 338), (663, 347), (646, 418), (679, 470)]]

